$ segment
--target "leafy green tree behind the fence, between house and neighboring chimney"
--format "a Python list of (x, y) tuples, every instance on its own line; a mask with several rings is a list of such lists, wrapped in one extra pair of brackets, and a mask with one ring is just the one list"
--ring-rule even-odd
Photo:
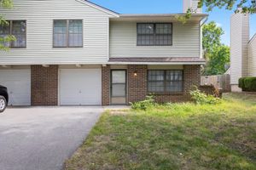
[(230, 63), (230, 47), (221, 43), (224, 31), (214, 21), (203, 26), (203, 50), (204, 58), (207, 60), (203, 74), (224, 74), (225, 65)]

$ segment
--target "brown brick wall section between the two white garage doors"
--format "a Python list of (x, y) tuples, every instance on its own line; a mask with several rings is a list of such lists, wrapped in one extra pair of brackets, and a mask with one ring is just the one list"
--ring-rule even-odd
[(58, 65), (32, 65), (32, 105), (58, 105)]

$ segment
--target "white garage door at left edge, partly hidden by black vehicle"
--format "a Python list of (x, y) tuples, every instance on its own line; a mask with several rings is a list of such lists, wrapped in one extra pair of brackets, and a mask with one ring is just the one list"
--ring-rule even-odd
[(0, 70), (0, 84), (8, 88), (9, 105), (31, 105), (31, 70)]

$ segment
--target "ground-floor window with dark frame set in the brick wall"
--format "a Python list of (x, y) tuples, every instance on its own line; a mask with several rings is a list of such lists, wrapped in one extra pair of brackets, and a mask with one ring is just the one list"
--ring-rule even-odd
[(148, 71), (148, 92), (183, 92), (183, 71)]

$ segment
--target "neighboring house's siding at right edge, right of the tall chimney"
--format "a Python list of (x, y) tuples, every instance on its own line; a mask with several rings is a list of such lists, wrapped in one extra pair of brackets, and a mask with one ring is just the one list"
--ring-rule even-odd
[(249, 76), (256, 77), (256, 34), (248, 43), (249, 45)]

